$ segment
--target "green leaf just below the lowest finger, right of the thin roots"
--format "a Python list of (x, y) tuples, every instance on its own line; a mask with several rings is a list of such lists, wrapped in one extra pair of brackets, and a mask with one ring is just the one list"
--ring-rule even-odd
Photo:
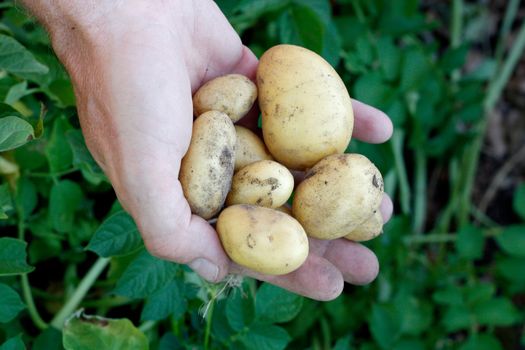
[(295, 293), (269, 283), (257, 291), (255, 297), (255, 315), (261, 322), (287, 322), (293, 319), (303, 305), (303, 298)]

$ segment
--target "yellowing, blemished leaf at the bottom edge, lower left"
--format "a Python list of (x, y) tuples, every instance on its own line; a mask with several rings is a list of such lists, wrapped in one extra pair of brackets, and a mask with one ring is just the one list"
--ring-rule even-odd
[(130, 320), (88, 316), (82, 311), (64, 325), (66, 350), (147, 350), (148, 338)]

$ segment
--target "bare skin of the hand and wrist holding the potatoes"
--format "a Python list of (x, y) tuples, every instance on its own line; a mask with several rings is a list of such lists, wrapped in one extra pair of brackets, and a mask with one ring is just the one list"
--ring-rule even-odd
[[(267, 276), (233, 264), (217, 233), (192, 215), (178, 174), (190, 144), (192, 94), (229, 73), (252, 80), (257, 59), (214, 2), (148, 0), (23, 0), (50, 33), (68, 70), (87, 146), (133, 216), (153, 255), (189, 264), (209, 281), (238, 273), (304, 296), (330, 300), (344, 281), (366, 284), (378, 273), (376, 256), (345, 239), (310, 240), (296, 271)], [(352, 102), (354, 137), (390, 138), (386, 115)], [(244, 118), (254, 127), (256, 115)], [(385, 222), (392, 202), (385, 197)]]

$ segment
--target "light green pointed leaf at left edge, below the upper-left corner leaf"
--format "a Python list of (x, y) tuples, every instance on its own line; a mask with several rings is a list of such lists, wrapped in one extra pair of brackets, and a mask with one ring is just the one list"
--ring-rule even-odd
[(25, 120), (15, 116), (0, 118), (0, 152), (20, 147), (34, 136), (33, 127)]

